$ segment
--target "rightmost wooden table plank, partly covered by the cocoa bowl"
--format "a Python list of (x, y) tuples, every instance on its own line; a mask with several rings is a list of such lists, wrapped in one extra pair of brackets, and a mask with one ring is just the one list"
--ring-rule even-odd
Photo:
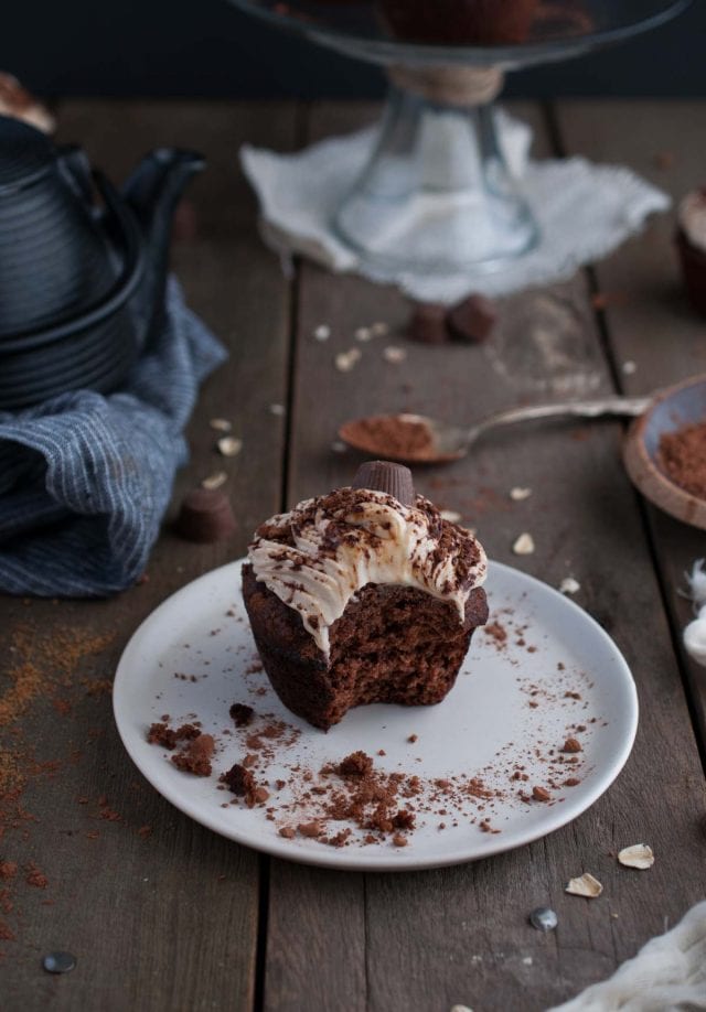
[[(607, 111), (608, 110), (608, 111)], [(570, 152), (622, 162), (676, 203), (703, 185), (703, 149), (695, 143), (706, 129), (706, 106), (698, 101), (610, 104), (561, 103), (557, 110)], [(645, 233), (597, 267), (607, 295), (606, 321), (621, 385), (629, 394), (646, 394), (706, 372), (706, 321), (691, 308), (682, 286), (673, 244), (674, 214), (656, 217)], [(634, 372), (623, 368), (634, 363)], [(693, 617), (684, 572), (704, 556), (703, 532), (646, 504), (675, 639)], [(706, 676), (682, 657), (687, 685), (706, 750)]]

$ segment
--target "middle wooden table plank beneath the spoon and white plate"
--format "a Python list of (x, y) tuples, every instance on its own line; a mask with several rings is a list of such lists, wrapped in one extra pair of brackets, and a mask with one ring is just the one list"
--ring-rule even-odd
[[(351, 129), (361, 115), (345, 107), (317, 109), (312, 136)], [(541, 130), (536, 114), (533, 122)], [(509, 300), (499, 332), (483, 347), (404, 344), (398, 331), (406, 314), (392, 289), (303, 268), (290, 503), (350, 481), (360, 457), (331, 452), (336, 424), (346, 418), (406, 408), (471, 422), (521, 401), (611, 388), (581, 277)], [(404, 344), (406, 360), (385, 363), (378, 342), (363, 347), (351, 373), (336, 372), (334, 354), (355, 344), (355, 327), (374, 321), (391, 325), (384, 343)], [(332, 329), (324, 344), (312, 337), (321, 323)], [(703, 894), (698, 755), (640, 512), (620, 464), (620, 432), (605, 422), (507, 431), (481, 442), (467, 461), (415, 477), (419, 491), (478, 528), (493, 558), (553, 585), (568, 574), (580, 581), (578, 603), (614, 636), (639, 685), (641, 726), (625, 771), (570, 826), (478, 864), (366, 875), (364, 889), (362, 876), (341, 875), (332, 897), (328, 884), (319, 893), (323, 879), (315, 870), (274, 862), (269, 1010), (297, 1008), (295, 994), (301, 1008), (333, 1008), (341, 994), (360, 1008), (360, 993), (347, 988), (363, 976), (364, 1006), (375, 1012), (436, 1012), (454, 1002), (483, 1012), (544, 1009), (612, 972), (663, 930), (665, 917), (675, 921)], [(513, 485), (531, 486), (532, 497), (512, 503)], [(522, 530), (533, 534), (537, 551), (518, 559), (511, 545)], [(665, 754), (668, 763), (655, 762)], [(642, 876), (609, 855), (638, 840), (650, 841), (657, 853)], [(593, 904), (563, 892), (566, 880), (584, 870), (606, 886)], [(292, 911), (302, 891), (309, 904), (300, 922)], [(526, 921), (545, 903), (560, 921), (549, 936)], [(331, 932), (343, 916), (350, 924), (344, 940)], [(314, 962), (310, 954), (322, 939), (330, 956)]]

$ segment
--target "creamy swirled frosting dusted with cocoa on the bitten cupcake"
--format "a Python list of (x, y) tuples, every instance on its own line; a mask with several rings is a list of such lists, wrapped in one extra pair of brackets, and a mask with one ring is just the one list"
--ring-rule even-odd
[(367, 488), (339, 488), (278, 514), (256, 531), (248, 559), (327, 657), (331, 626), (367, 583), (426, 591), (454, 604), (462, 623), (486, 573), (481, 545), (422, 496), (403, 506)]

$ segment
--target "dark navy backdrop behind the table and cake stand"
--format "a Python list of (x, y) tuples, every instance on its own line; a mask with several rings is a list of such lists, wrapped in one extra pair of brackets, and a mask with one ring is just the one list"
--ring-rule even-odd
[[(227, 0), (14, 0), (3, 4), (0, 69), (45, 96), (315, 98), (383, 90), (374, 67), (271, 30)], [(706, 0), (616, 49), (513, 74), (505, 94), (706, 95)]]

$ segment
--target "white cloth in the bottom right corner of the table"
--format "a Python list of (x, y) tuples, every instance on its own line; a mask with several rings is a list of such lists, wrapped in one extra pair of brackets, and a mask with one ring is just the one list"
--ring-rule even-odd
[(706, 1009), (706, 901), (644, 945), (601, 983), (548, 1012), (685, 1012)]

